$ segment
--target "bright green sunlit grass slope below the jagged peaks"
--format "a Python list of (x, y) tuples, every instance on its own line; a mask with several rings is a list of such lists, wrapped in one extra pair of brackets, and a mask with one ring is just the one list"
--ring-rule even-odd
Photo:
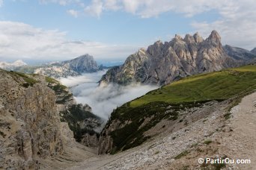
[(227, 99), (256, 89), (256, 66), (243, 66), (194, 75), (176, 81), (160, 89), (148, 92), (131, 102), (131, 107), (138, 107), (153, 101), (170, 103)]

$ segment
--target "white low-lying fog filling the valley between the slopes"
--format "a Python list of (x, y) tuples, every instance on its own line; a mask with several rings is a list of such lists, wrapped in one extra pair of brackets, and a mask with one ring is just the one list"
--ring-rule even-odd
[(89, 104), (94, 114), (106, 120), (109, 119), (112, 110), (116, 107), (158, 88), (157, 86), (139, 84), (98, 86), (97, 82), (105, 73), (106, 70), (77, 77), (61, 78), (60, 81), (70, 87), (77, 103)]

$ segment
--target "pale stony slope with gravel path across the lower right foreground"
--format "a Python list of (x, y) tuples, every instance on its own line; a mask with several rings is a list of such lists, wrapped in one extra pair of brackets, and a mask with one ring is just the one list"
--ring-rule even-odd
[[(207, 118), (173, 133), (165, 130), (150, 142), (119, 154), (97, 156), (95, 150), (78, 149), (73, 161), (69, 156), (70, 164), (56, 168), (74, 165), (69, 169), (256, 169), (256, 92), (233, 107), (230, 116), (227, 107), (222, 104)], [(74, 153), (73, 149), (70, 152)], [(198, 163), (198, 158), (207, 157), (250, 159), (251, 164)], [(67, 157), (55, 160), (55, 165), (61, 161), (66, 162)]]

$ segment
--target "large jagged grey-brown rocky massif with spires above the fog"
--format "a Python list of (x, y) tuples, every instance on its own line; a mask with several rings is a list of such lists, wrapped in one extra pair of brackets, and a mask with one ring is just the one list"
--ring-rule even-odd
[(170, 42), (157, 41), (130, 55), (124, 65), (109, 69), (100, 85), (169, 84), (188, 75), (241, 66), (250, 58), (229, 56), (216, 31), (212, 31), (206, 40), (198, 33), (193, 36), (186, 34), (184, 39), (176, 35)]

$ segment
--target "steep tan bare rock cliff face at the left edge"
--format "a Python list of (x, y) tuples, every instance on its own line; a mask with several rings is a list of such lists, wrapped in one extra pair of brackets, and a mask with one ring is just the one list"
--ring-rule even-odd
[(0, 75), (0, 169), (38, 169), (37, 160), (63, 151), (55, 92), (43, 78)]

